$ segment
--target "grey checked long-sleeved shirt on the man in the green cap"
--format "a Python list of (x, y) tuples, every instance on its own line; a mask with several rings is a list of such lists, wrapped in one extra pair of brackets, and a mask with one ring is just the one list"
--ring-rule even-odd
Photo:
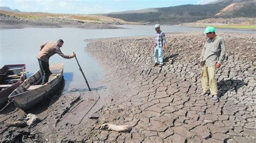
[(208, 38), (205, 42), (200, 61), (205, 62), (206, 66), (215, 66), (216, 63), (223, 63), (225, 60), (225, 42), (224, 39), (216, 36), (213, 39)]

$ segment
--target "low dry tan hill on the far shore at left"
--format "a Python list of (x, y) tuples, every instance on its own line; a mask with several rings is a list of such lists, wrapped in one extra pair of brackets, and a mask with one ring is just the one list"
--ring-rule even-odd
[(122, 19), (96, 15), (71, 15), (42, 12), (10, 12), (0, 10), (0, 28), (79, 27), (117, 28), (111, 25), (136, 24)]

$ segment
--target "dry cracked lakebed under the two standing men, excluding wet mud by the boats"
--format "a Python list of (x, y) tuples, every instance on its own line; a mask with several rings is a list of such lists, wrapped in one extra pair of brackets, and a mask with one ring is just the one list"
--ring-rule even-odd
[(95, 114), (110, 124), (133, 127), (130, 133), (93, 130), (87, 141), (256, 142), (255, 34), (219, 35), (227, 57), (216, 74), (218, 103), (200, 96), (197, 62), (205, 35), (167, 35), (163, 68), (152, 67), (152, 37), (87, 45), (110, 69), (112, 88), (122, 89), (115, 102)]

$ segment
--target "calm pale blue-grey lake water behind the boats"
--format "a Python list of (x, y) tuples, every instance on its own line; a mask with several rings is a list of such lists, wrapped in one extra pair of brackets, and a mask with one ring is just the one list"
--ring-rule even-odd
[[(153, 35), (152, 25), (122, 25), (123, 29), (80, 29), (80, 28), (22, 28), (0, 30), (0, 67), (10, 64), (25, 63), (30, 75), (39, 69), (37, 54), (39, 47), (47, 41), (64, 40), (64, 54), (77, 53), (77, 59), (82, 67), (87, 81), (96, 83), (104, 75), (104, 70), (85, 51), (85, 39), (131, 37), (138, 35)], [(164, 32), (203, 32), (205, 28), (161, 26)], [(255, 31), (216, 29), (216, 32), (255, 33)], [(203, 36), (203, 35), (202, 35)], [(73, 88), (85, 89), (86, 84), (74, 59), (63, 59), (55, 54), (50, 58), (50, 64), (64, 63), (65, 90)], [(91, 87), (93, 88), (93, 87)]]

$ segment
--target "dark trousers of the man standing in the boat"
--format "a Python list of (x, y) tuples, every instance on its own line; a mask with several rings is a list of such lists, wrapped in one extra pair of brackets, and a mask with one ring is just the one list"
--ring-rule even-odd
[(51, 75), (51, 71), (49, 69), (49, 62), (42, 61), (38, 59), (40, 74), (42, 77), (42, 84), (45, 84), (49, 80), (49, 76)]

